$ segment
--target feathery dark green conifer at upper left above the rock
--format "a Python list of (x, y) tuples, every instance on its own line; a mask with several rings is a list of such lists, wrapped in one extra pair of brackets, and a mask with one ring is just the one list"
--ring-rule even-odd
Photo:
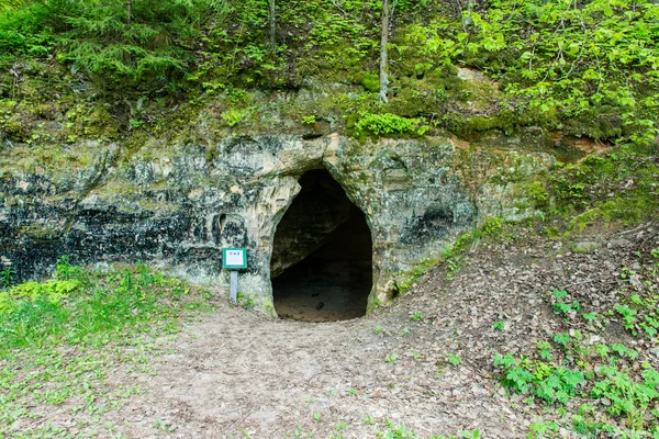
[(161, 88), (193, 65), (202, 9), (188, 0), (51, 0), (58, 56), (103, 87)]

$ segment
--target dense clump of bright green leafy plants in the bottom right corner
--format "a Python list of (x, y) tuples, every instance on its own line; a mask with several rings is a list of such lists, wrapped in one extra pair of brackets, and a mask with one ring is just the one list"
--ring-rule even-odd
[[(630, 365), (638, 357), (637, 351), (621, 344), (593, 347), (585, 344), (578, 331), (572, 336), (557, 334), (555, 341), (561, 347), (557, 352), (551, 352), (550, 342), (538, 342), (539, 358), (535, 360), (526, 356), (515, 358), (511, 353), (495, 354), (494, 365), (501, 369), (502, 384), (547, 405), (573, 405), (572, 401), (581, 401), (579, 414), (572, 415), (571, 424), (574, 431), (582, 435), (621, 432), (610, 424), (611, 419), (597, 414), (600, 405), (596, 403), (601, 398), (608, 399), (608, 414), (628, 428), (640, 432), (654, 426), (649, 415), (659, 402), (659, 372), (647, 362), (636, 372), (638, 367)], [(611, 352), (617, 358), (611, 358)], [(554, 362), (554, 358), (559, 361)], [(532, 426), (530, 437), (541, 437), (544, 431), (556, 431), (556, 428), (555, 424), (537, 423)]]

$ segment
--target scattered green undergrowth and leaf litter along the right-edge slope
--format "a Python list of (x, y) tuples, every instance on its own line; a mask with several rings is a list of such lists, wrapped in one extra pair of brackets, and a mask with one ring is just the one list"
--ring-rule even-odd
[[(635, 255), (640, 263), (622, 268), (616, 303), (602, 308), (578, 301), (569, 290), (554, 290), (547, 301), (568, 331), (539, 341), (533, 352), (494, 356), (505, 389), (559, 415), (532, 425), (530, 437), (554, 437), (559, 428), (588, 438), (659, 436), (659, 371), (652, 353), (659, 249)], [(630, 342), (604, 340), (614, 323), (628, 331)]]

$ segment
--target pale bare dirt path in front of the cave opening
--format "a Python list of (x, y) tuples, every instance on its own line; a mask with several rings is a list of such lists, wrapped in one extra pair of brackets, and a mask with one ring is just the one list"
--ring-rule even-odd
[[(398, 337), (373, 334), (388, 320), (379, 317), (310, 324), (223, 307), (158, 360), (158, 375), (143, 384), (147, 394), (123, 413), (124, 434), (153, 436), (157, 419), (177, 438), (367, 438), (387, 418), (424, 437), (466, 428), (515, 436), (506, 404), (492, 401), (469, 368), (435, 378), (433, 358), (398, 351), (387, 362)], [(347, 424), (342, 431), (339, 423)]]

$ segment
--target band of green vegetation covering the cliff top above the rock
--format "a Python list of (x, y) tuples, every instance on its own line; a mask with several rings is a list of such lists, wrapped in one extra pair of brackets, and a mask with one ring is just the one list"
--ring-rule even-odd
[[(382, 116), (372, 125), (378, 133), (367, 134), (470, 136), (540, 125), (645, 145), (657, 135), (659, 7), (647, 0), (392, 2), (387, 104), (377, 99), (380, 1), (277, 2), (275, 52), (269, 7), (16, 0), (0, 12), (2, 106), (26, 113), (57, 101), (52, 112), (64, 114), (79, 100), (72, 97), (85, 95), (96, 105), (112, 102), (114, 124), (127, 132), (153, 128), (168, 110), (203, 103), (209, 91), (276, 93), (320, 81), (361, 88), (362, 97), (346, 98), (351, 109), (330, 102), (299, 119), (340, 119), (349, 110), (338, 125), (356, 135), (373, 115)], [(492, 82), (473, 87), (455, 66)], [(263, 111), (227, 106), (230, 127), (255, 123), (245, 115)], [(423, 123), (410, 131), (393, 115)], [(3, 136), (21, 138), (19, 125), (3, 116)]]

